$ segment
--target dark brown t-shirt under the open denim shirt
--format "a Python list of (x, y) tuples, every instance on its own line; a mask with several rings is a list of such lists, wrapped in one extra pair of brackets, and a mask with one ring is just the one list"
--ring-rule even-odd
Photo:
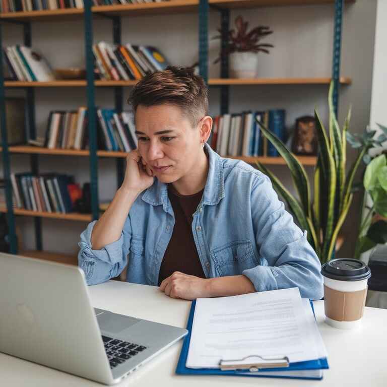
[(168, 184), (168, 198), (175, 214), (175, 225), (161, 263), (159, 285), (173, 272), (181, 272), (200, 278), (206, 277), (191, 229), (192, 214), (195, 213), (202, 200), (203, 191), (204, 189), (193, 195), (184, 196), (180, 195), (172, 184)]

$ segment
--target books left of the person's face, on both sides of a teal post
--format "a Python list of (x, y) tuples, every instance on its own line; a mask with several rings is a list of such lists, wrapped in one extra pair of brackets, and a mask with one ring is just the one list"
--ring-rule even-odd
[[(97, 109), (98, 149), (130, 152), (137, 148), (137, 137), (132, 112), (117, 113), (114, 109)], [(88, 112), (53, 110), (49, 113), (45, 138), (31, 145), (48, 149), (88, 149)]]

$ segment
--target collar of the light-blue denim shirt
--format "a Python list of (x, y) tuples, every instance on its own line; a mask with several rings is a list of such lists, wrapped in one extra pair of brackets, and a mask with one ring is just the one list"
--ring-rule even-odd
[[(207, 182), (203, 193), (203, 204), (216, 205), (224, 198), (224, 174), (221, 157), (214, 152), (206, 143), (205, 151), (209, 156), (209, 169)], [(168, 212), (168, 190), (167, 184), (162, 183), (157, 178), (151, 187), (145, 190), (141, 199), (152, 206), (163, 206)]]

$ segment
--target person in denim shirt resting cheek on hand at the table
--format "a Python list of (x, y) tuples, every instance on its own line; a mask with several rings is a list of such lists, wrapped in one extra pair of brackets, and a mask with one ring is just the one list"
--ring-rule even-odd
[(192, 70), (169, 67), (133, 89), (138, 149), (109, 208), (81, 234), (88, 284), (119, 275), (184, 299), (298, 287), (323, 294), (306, 232), (270, 179), (208, 145), (208, 90)]

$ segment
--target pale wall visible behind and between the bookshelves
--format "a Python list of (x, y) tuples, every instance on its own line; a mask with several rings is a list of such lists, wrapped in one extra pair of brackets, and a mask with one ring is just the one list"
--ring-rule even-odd
[[(376, 0), (357, 0), (345, 6), (343, 23), (342, 75), (352, 77), (351, 86), (343, 86), (340, 97), (340, 122), (349, 103), (353, 105), (352, 130), (362, 132), (369, 122), (369, 101), (372, 74), (373, 39)], [(249, 27), (268, 25), (274, 31), (266, 42), (275, 45), (270, 55), (260, 54), (260, 77), (330, 77), (332, 67), (333, 5), (269, 7), (253, 10), (232, 11), (233, 27), (237, 15), (250, 22)], [(217, 34), (220, 16), (210, 12), (209, 37)], [(122, 42), (157, 46), (175, 65), (187, 66), (198, 57), (198, 16), (195, 14), (144, 16), (122, 18)], [(20, 27), (3, 27), (4, 45), (22, 42)], [(83, 22), (55, 21), (32, 25), (33, 47), (47, 57), (56, 67), (84, 66)], [(112, 41), (111, 22), (94, 19), (94, 41)], [(219, 77), (219, 65), (212, 62), (217, 57), (219, 41), (210, 41), (209, 76)], [(124, 98), (130, 89), (124, 89)], [(20, 91), (8, 90), (7, 95), (19, 95)], [(327, 120), (327, 86), (234, 86), (230, 88), (230, 112), (246, 109), (284, 107), (289, 130), (295, 118), (313, 114), (316, 106)], [(219, 114), (219, 89), (210, 89), (210, 113)], [(72, 109), (86, 103), (84, 88), (37, 88), (36, 123), (43, 135), (48, 112), (51, 109)], [(113, 90), (96, 89), (96, 103), (113, 107)], [(12, 171), (27, 169), (28, 156), (12, 155)], [(79, 182), (88, 181), (88, 160), (81, 157), (40, 156), (41, 171), (68, 172), (76, 175)], [(100, 160), (99, 192), (101, 199), (114, 195), (115, 162)], [(286, 167), (272, 168), (287, 185), (291, 185)], [(312, 169), (308, 167), (309, 173)], [(353, 223), (353, 222), (352, 222)], [(25, 248), (34, 248), (33, 221), (18, 217), (17, 224), (23, 230)], [(80, 232), (86, 224), (63, 220), (43, 219), (44, 249), (75, 252)], [(353, 226), (350, 224), (349, 233)], [(353, 241), (347, 239), (349, 248)]]

